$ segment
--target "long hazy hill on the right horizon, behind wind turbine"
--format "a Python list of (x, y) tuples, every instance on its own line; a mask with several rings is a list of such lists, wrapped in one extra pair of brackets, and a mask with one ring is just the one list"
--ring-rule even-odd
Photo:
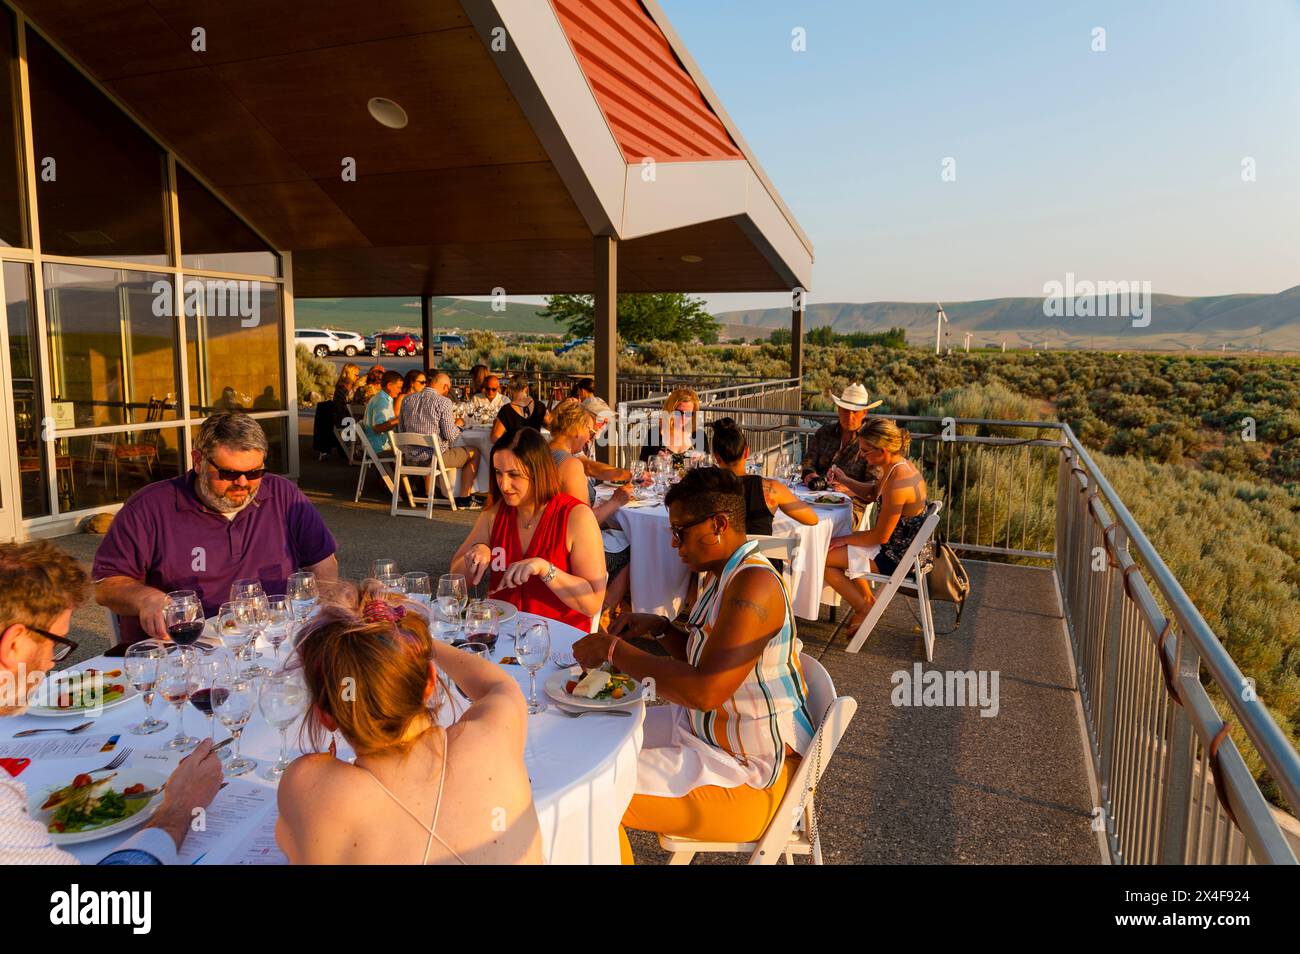
[[(1300, 286), (1271, 295), (1183, 298), (1152, 295), (1150, 324), (1134, 328), (1121, 317), (1046, 317), (1041, 298), (994, 298), (984, 302), (944, 302), (946, 343), (961, 347), (967, 331), (971, 347), (1030, 346), (1158, 351), (1300, 350)], [(748, 326), (754, 334), (790, 326), (788, 308), (723, 312), (728, 326)], [(866, 302), (809, 305), (805, 328), (829, 325), (840, 333), (885, 331), (902, 328), (914, 344), (935, 341), (932, 302)], [(737, 330), (737, 334), (744, 331)]]

